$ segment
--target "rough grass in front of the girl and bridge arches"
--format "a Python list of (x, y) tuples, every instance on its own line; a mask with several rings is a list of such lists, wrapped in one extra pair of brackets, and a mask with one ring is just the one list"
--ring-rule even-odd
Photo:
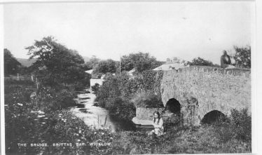
[[(149, 137), (146, 131), (116, 133), (116, 154), (218, 154), (250, 153), (251, 142), (230, 139), (222, 142), (220, 126), (184, 128), (173, 126), (160, 137)], [(226, 129), (226, 128), (225, 128)]]

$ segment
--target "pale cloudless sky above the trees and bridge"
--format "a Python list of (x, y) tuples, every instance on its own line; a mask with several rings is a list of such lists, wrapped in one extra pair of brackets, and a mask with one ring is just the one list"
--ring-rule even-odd
[(150, 53), (157, 60), (201, 57), (220, 64), (222, 50), (251, 45), (253, 2), (100, 2), (5, 4), (4, 47), (29, 58), (25, 47), (54, 36), (82, 56), (119, 60)]

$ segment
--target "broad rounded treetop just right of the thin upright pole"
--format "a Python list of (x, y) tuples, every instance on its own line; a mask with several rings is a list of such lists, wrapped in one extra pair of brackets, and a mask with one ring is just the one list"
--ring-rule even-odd
[(149, 55), (149, 53), (131, 53), (130, 55), (123, 55), (121, 57), (121, 71), (130, 71), (135, 68), (137, 72), (154, 69), (162, 65), (156, 58)]

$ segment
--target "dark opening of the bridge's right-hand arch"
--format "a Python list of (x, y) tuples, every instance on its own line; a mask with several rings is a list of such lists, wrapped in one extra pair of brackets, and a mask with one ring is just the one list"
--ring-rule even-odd
[(205, 114), (203, 119), (201, 120), (201, 124), (214, 124), (214, 123), (222, 123), (228, 121), (225, 114), (218, 110), (212, 110)]

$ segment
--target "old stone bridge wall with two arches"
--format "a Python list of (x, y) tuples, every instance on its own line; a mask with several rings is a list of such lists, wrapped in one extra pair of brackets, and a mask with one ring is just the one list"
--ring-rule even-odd
[[(230, 115), (247, 108), (251, 114), (251, 77), (247, 69), (193, 66), (165, 71), (161, 81), (163, 104), (177, 104), (184, 124), (198, 126), (209, 112)], [(179, 109), (180, 107), (180, 109)]]

